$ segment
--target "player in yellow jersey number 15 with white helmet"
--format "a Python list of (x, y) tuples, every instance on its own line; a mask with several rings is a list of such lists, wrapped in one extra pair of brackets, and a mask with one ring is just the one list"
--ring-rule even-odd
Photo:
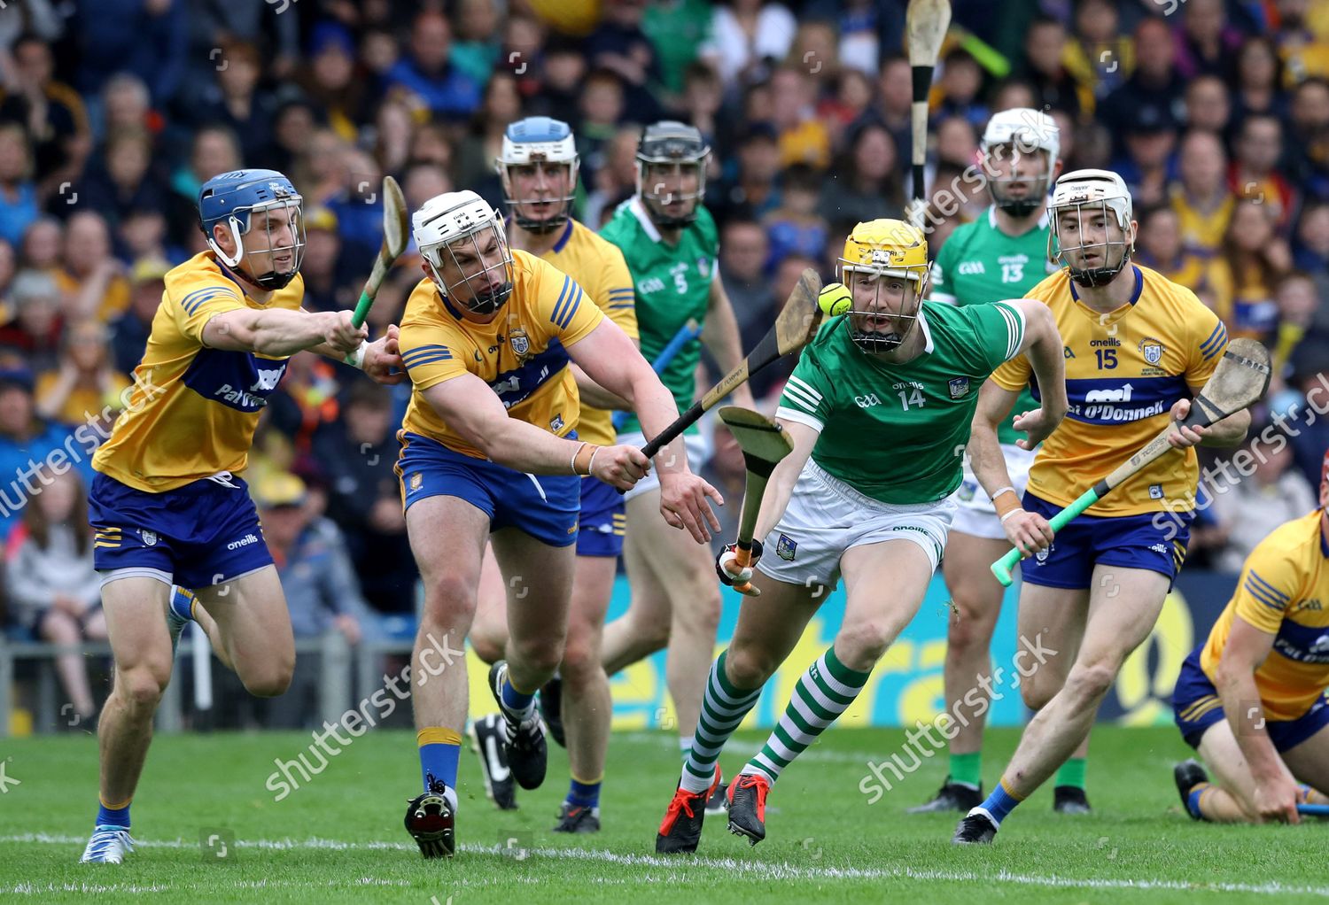
[[(1099, 703), (1154, 629), (1185, 555), (1188, 530), (1160, 525), (1155, 516), (1195, 498), (1199, 468), (1191, 447), (1236, 445), (1251, 424), (1241, 411), (1208, 428), (1180, 427), (1191, 396), (1223, 355), (1227, 332), (1188, 288), (1131, 263), (1136, 223), (1122, 178), (1107, 170), (1067, 173), (1053, 189), (1049, 213), (1049, 256), (1062, 270), (1026, 296), (1057, 318), (1070, 409), (1034, 458), (1022, 506), (1010, 489), (997, 427), (1029, 384), (1027, 359), (1011, 359), (983, 384), (969, 441), (974, 474), (1002, 513), (1007, 540), (1037, 554), (1022, 566), (1017, 625), (1045, 653), (1019, 686), (1038, 714), (1001, 783), (961, 820), (956, 843), (990, 843), (1011, 808), (1076, 748), (1083, 752)], [(1025, 415), (1015, 429), (1030, 429), (1038, 417)], [(1047, 518), (1168, 424), (1176, 425), (1171, 443), (1177, 452), (1051, 540)]]

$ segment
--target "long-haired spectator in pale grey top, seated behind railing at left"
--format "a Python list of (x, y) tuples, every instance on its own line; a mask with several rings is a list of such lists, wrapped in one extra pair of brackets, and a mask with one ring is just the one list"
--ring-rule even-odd
[[(47, 481), (5, 545), (9, 622), (54, 645), (105, 641), (86, 490), (77, 472), (52, 470)], [(57, 654), (56, 674), (74, 712), (90, 720), (97, 704), (84, 656), (72, 650)]]

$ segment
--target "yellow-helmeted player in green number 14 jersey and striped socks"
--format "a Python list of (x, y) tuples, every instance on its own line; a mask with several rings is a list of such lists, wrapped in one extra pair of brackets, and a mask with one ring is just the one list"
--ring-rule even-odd
[[(766, 837), (771, 784), (853, 703), (922, 603), (946, 544), (948, 497), (960, 485), (978, 387), (993, 369), (1021, 352), (1034, 361), (1047, 391), (1023, 425), (1033, 443), (1066, 409), (1062, 342), (1047, 307), (920, 303), (928, 243), (913, 226), (856, 226), (840, 279), (852, 307), (803, 351), (776, 412), (795, 445), (767, 485), (755, 533), (766, 541), (754, 544), (760, 565), (738, 569), (732, 546), (716, 562), (722, 581), (751, 579), (762, 595), (744, 602), (728, 650), (711, 667), (658, 852), (696, 849), (720, 750), (844, 574), (848, 602), (835, 645), (799, 679), (775, 732), (730, 785), (730, 829), (754, 844)], [(835, 295), (828, 290), (824, 303)]]

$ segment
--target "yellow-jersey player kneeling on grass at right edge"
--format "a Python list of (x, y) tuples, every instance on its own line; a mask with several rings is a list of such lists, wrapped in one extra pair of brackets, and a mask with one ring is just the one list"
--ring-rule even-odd
[(1193, 760), (1176, 765), (1196, 820), (1297, 823), (1298, 804), (1329, 804), (1329, 453), (1320, 508), (1251, 552), (1209, 638), (1172, 692)]

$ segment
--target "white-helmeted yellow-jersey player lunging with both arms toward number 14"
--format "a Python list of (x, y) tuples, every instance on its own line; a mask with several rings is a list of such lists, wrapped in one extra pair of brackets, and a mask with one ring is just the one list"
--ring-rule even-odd
[[(678, 408), (633, 340), (571, 276), (509, 250), (502, 219), (480, 195), (431, 198), (413, 226), (428, 279), (401, 320), (413, 393), (397, 474), (425, 593), (412, 656), (424, 792), (405, 825), (425, 857), (440, 857), (455, 851), (468, 690), (465, 668), (444, 668), (439, 656), (447, 659), (470, 630), (485, 541), (510, 589), (508, 659), (490, 668), (489, 686), (513, 779), (532, 789), (546, 765), (534, 694), (563, 658), (581, 478), (626, 490), (651, 466), (635, 447), (577, 439), (570, 363), (629, 403), (651, 436)], [(682, 440), (655, 465), (664, 521), (698, 544), (710, 541), (719, 522), (707, 497), (720, 497), (688, 470)]]

